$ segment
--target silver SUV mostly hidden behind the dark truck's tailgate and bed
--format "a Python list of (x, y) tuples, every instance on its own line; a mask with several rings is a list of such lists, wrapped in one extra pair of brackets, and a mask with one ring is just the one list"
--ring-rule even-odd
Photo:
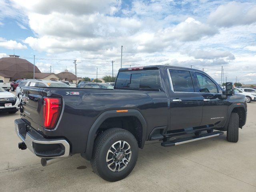
[(69, 87), (67, 84), (59, 81), (51, 80), (36, 80), (36, 79), (27, 79), (19, 83), (16, 88), (16, 95), (20, 98), (20, 87), (29, 86), (29, 87)]

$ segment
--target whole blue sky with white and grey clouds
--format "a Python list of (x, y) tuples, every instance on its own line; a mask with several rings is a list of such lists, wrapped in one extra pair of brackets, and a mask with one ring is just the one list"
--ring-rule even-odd
[(98, 77), (123, 67), (199, 68), (220, 82), (256, 83), (256, 1), (1, 0), (0, 57), (20, 55), (42, 72)]

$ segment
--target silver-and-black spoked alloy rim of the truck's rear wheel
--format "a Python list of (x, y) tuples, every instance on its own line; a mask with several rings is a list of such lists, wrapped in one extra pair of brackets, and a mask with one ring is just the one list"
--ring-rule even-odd
[(132, 157), (130, 144), (126, 141), (117, 141), (109, 148), (106, 156), (108, 168), (113, 172), (124, 170)]

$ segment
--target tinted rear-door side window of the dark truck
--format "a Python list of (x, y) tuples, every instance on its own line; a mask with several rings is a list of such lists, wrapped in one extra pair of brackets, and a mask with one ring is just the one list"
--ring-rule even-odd
[(189, 71), (170, 70), (174, 92), (195, 92)]

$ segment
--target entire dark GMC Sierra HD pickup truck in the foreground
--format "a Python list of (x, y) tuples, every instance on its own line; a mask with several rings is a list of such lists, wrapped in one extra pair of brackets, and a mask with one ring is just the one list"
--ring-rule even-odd
[(246, 122), (245, 96), (234, 94), (232, 83), (222, 90), (191, 68), (121, 68), (113, 90), (21, 89), (19, 148), (30, 149), (42, 166), (81, 154), (112, 182), (130, 174), (145, 141), (168, 147), (226, 131), (227, 140), (237, 142)]

